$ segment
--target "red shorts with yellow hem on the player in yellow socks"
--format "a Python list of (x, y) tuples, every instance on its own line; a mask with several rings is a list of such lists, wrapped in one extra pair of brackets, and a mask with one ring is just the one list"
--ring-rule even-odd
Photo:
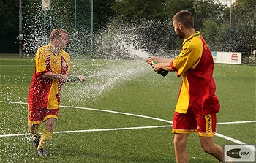
[(42, 124), (48, 118), (58, 118), (59, 108), (48, 110), (42, 107), (28, 105), (28, 123)]

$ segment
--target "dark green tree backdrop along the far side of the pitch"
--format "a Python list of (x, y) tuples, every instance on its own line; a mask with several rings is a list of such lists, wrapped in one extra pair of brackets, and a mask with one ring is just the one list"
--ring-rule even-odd
[[(45, 43), (45, 35), (48, 37), (56, 27), (69, 31), (72, 36), (70, 49), (83, 46), (78, 53), (87, 53), (91, 46), (91, 0), (76, 0), (76, 17), (74, 0), (51, 2), (51, 10), (42, 11), (41, 1), (22, 0), (23, 43), (27, 45), (27, 53), (35, 53)], [(18, 8), (18, 0), (0, 1), (0, 37), (4, 38), (0, 41), (0, 53), (18, 53)], [(256, 42), (255, 8), (255, 0), (236, 0), (231, 9), (219, 0), (94, 0), (93, 30), (94, 34), (104, 31), (113, 19), (132, 23), (152, 20), (167, 23), (176, 12), (189, 10), (195, 18), (195, 29), (206, 34), (204, 37), (214, 50), (252, 52), (255, 47), (250, 45)], [(217, 36), (211, 25), (219, 30)], [(79, 41), (75, 42), (73, 37)], [(168, 38), (172, 38), (167, 43), (168, 50), (177, 50), (180, 40), (176, 34), (165, 39)]]

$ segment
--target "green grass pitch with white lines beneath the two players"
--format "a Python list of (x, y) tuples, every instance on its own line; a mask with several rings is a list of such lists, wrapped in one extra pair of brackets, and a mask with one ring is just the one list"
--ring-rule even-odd
[[(175, 72), (162, 77), (145, 61), (73, 60), (72, 74), (93, 77), (64, 85), (50, 156), (40, 157), (26, 119), (34, 60), (0, 63), (0, 162), (175, 162), (171, 121), (181, 84)], [(215, 65), (221, 102), (215, 142), (222, 147), (256, 144), (255, 72)], [(203, 153), (197, 134), (189, 135), (187, 150), (190, 162), (217, 162)]]

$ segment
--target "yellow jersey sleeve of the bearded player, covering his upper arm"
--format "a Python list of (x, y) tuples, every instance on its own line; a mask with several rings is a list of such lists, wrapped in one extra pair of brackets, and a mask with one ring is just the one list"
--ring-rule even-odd
[(170, 63), (172, 69), (174, 69), (180, 77), (187, 72), (188, 69), (194, 69), (203, 52), (203, 44), (200, 39), (189, 40), (184, 43), (181, 53)]

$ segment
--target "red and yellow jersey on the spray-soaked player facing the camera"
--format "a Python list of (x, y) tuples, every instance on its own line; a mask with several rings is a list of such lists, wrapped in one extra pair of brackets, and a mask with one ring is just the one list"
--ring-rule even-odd
[(35, 71), (29, 88), (28, 103), (47, 109), (59, 108), (60, 91), (63, 83), (57, 79), (42, 78), (46, 72), (69, 74), (70, 58), (64, 50), (58, 55), (52, 53), (50, 44), (37, 50)]

